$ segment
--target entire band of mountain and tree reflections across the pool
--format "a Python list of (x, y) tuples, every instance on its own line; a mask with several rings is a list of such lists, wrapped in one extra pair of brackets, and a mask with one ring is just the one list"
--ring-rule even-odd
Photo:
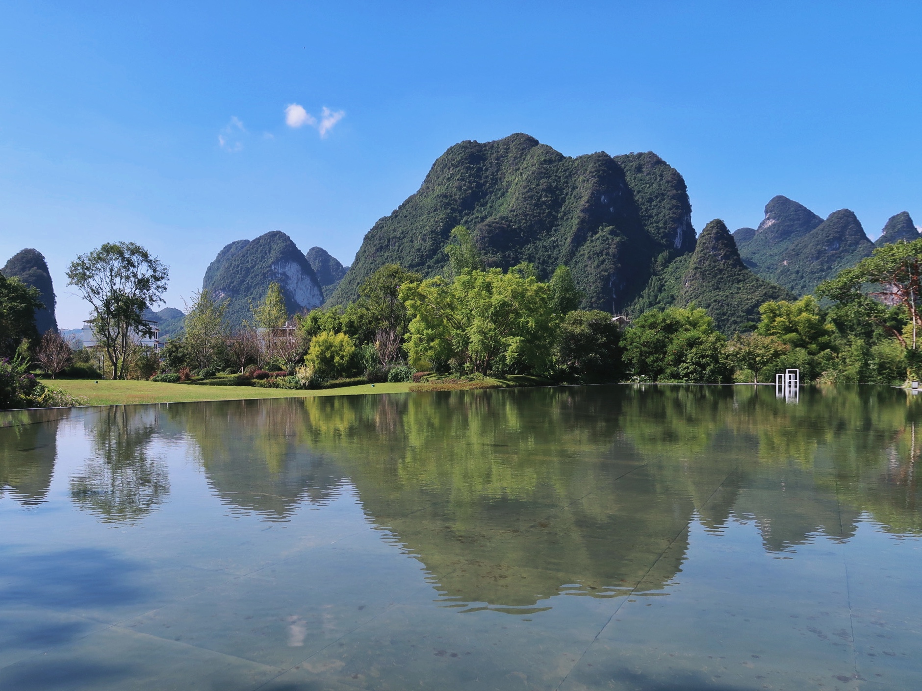
[[(597, 386), (113, 407), (85, 416), (94, 452), (71, 491), (100, 520), (140, 520), (169, 493), (168, 442), (268, 521), (349, 483), (446, 600), (530, 607), (662, 588), (691, 521), (753, 521), (772, 552), (847, 540), (865, 517), (922, 534), (919, 398)], [(55, 427), (0, 429), (0, 483), (20, 501), (47, 492)]]

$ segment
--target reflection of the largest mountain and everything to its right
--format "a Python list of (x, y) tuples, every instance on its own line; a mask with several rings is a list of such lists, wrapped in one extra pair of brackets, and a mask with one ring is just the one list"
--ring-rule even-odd
[[(697, 515), (779, 551), (847, 539), (862, 512), (918, 531), (919, 407), (901, 392), (584, 387), (308, 399), (313, 449), (446, 595), (527, 605), (665, 583)], [(676, 540), (668, 556), (669, 541)], [(647, 586), (644, 586), (647, 587)], [(651, 586), (656, 587), (656, 586)]]

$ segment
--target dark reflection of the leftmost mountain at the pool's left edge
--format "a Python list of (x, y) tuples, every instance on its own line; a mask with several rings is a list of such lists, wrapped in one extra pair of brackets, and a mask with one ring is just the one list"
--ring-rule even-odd
[(0, 427), (0, 498), (8, 494), (27, 506), (46, 500), (57, 454), (57, 429), (66, 415), (45, 417), (45, 422)]

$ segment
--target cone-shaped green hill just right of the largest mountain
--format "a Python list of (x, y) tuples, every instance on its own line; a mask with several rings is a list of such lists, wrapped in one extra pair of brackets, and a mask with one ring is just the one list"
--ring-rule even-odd
[(747, 322), (759, 321), (759, 306), (767, 300), (796, 299), (743, 264), (737, 245), (719, 218), (704, 227), (694, 252), (679, 257), (651, 279), (630, 310), (640, 314), (652, 308), (692, 302), (707, 310), (717, 329), (732, 334)]

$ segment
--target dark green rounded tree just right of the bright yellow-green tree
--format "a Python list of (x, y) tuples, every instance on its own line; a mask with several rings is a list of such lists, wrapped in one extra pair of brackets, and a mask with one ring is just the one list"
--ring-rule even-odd
[(554, 364), (575, 381), (618, 381), (622, 374), (621, 329), (608, 312), (570, 311), (561, 322)]

